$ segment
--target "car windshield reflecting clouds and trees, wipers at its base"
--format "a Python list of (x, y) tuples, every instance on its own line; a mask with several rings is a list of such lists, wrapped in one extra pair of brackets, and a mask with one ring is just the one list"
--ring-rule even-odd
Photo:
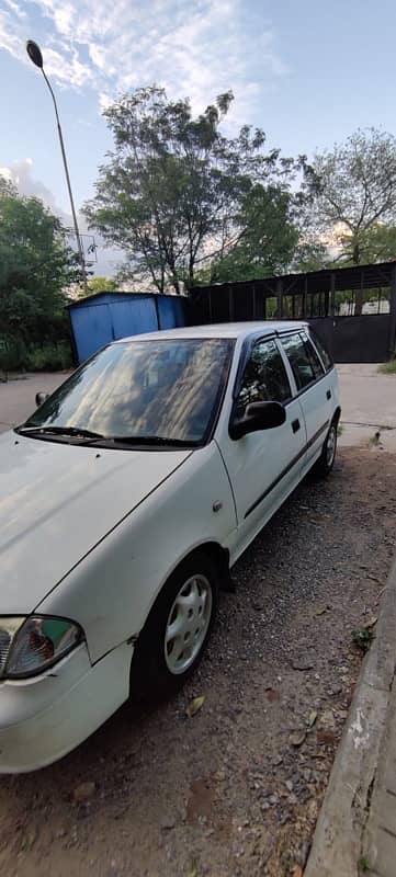
[[(111, 344), (81, 366), (22, 431), (133, 442), (203, 444), (227, 379), (234, 342), (147, 339)], [(38, 434), (39, 437), (39, 434)], [(88, 440), (86, 440), (88, 441)]]

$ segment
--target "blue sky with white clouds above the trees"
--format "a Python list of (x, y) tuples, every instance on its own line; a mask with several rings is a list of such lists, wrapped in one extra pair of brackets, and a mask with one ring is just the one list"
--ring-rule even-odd
[[(142, 86), (189, 96), (195, 112), (233, 89), (228, 133), (261, 127), (285, 156), (312, 157), (358, 127), (396, 135), (395, 36), (394, 0), (0, 0), (0, 169), (71, 225), (27, 38), (56, 91), (80, 209), (112, 147), (102, 110)], [(99, 247), (97, 273), (115, 262)]]

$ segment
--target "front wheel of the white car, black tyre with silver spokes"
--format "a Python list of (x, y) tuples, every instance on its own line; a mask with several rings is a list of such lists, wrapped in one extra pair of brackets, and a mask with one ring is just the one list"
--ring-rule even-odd
[(168, 579), (136, 645), (132, 696), (158, 702), (182, 687), (205, 650), (217, 612), (218, 588), (218, 570), (203, 551), (186, 558)]

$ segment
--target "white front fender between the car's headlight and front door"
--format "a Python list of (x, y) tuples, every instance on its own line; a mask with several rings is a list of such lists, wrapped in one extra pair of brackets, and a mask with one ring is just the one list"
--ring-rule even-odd
[(213, 441), (120, 522), (36, 612), (78, 622), (94, 662), (138, 636), (162, 585), (189, 554), (205, 543), (228, 548), (236, 527), (228, 475)]

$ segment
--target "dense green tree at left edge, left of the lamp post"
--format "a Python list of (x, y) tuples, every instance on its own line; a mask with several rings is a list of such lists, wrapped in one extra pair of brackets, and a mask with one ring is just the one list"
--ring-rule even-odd
[(64, 314), (65, 287), (80, 278), (57, 217), (34, 197), (0, 185), (0, 327), (25, 343)]

